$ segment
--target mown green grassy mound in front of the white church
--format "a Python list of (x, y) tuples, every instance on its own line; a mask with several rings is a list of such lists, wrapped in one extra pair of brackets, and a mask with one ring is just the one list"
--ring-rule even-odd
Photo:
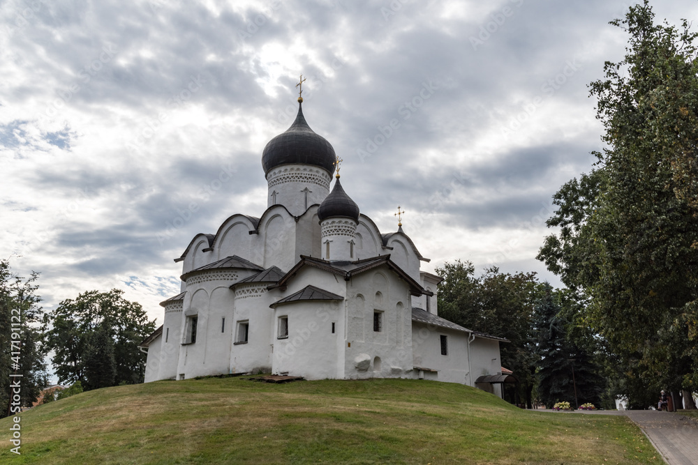
[(22, 416), (22, 455), (0, 420), (2, 463), (661, 463), (623, 416), (523, 411), (418, 380), (241, 378), (84, 392)]

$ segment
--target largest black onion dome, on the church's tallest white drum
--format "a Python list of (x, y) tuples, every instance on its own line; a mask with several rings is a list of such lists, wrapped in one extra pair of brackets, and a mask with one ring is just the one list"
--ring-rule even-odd
[(262, 153), (265, 174), (281, 165), (313, 165), (334, 171), (336, 155), (325, 137), (315, 134), (303, 117), (302, 104), (290, 128), (270, 140)]

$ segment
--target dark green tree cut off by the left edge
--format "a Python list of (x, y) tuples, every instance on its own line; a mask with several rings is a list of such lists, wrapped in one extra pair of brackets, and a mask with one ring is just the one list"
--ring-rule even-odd
[[(38, 306), (36, 280), (38, 273), (25, 280), (12, 272), (8, 260), (0, 260), (0, 417), (31, 406), (47, 384), (45, 347), (38, 328), (43, 310)], [(22, 380), (19, 405), (11, 399), (16, 392), (10, 384), (16, 379)]]

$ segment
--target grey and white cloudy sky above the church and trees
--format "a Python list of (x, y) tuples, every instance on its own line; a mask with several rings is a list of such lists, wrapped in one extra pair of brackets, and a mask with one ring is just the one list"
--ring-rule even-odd
[[(655, 1), (658, 19), (698, 17)], [(431, 258), (537, 271), (551, 196), (593, 163), (614, 0), (0, 2), (0, 257), (44, 307), (124, 289), (161, 322), (179, 257), (260, 216), (265, 144), (304, 114), (343, 186)], [(193, 207), (193, 208), (192, 208)]]

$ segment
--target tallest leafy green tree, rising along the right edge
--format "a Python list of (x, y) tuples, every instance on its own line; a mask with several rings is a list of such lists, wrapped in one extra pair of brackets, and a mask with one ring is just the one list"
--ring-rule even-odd
[(607, 144), (570, 181), (539, 259), (588, 296), (588, 321), (648, 388), (698, 388), (698, 61), (688, 23), (654, 24), (648, 1), (611, 22), (625, 58), (591, 84)]

